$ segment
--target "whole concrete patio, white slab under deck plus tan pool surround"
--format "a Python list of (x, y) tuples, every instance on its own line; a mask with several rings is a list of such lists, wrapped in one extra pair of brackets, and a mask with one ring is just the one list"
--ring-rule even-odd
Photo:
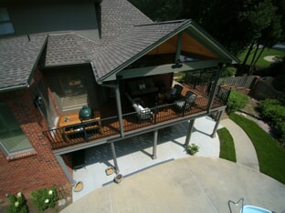
[(210, 137), (214, 126), (210, 117), (195, 120), (190, 142), (200, 147), (195, 157), (183, 147), (187, 122), (159, 131), (157, 159), (152, 158), (153, 134), (117, 142), (123, 175), (119, 185), (113, 182), (115, 174), (105, 173), (113, 165), (109, 145), (88, 149), (86, 166), (74, 171), (84, 188), (73, 192), (73, 203), (62, 212), (229, 212), (227, 201), (239, 198), (285, 212), (283, 184), (256, 166), (243, 165), (243, 159), (232, 163), (218, 158), (218, 137)]

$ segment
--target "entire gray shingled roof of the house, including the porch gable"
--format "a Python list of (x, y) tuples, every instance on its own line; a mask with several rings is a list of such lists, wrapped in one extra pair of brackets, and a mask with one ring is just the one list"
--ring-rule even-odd
[(0, 58), (0, 66), (4, 67), (0, 70), (0, 91), (28, 86), (40, 56), (44, 67), (91, 64), (101, 83), (181, 32), (193, 35), (222, 61), (238, 62), (192, 20), (154, 23), (127, 0), (103, 0), (96, 11), (99, 41), (78, 32), (30, 35), (28, 43), (26, 36), (1, 39), (0, 53), (5, 57)]

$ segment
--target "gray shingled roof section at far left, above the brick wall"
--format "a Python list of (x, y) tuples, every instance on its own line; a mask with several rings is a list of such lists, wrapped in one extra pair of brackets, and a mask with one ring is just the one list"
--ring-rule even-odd
[(0, 90), (26, 86), (37, 65), (47, 35), (29, 35), (0, 39)]

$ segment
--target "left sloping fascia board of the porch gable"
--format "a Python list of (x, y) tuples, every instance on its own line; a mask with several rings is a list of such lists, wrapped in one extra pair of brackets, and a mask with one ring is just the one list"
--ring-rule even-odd
[(127, 60), (125, 63), (121, 64), (121, 66), (118, 66), (117, 68), (115, 68), (114, 70), (112, 70), (109, 74), (100, 77), (100, 79), (98, 79), (98, 83), (101, 84), (103, 81), (105, 81), (107, 78), (109, 78), (110, 76), (120, 72), (123, 68), (131, 65), (133, 62), (135, 62), (137, 59), (139, 59), (140, 57), (146, 55), (148, 52), (150, 52), (151, 50), (153, 50), (153, 48), (155, 48), (156, 46), (160, 46), (161, 44), (163, 44), (165, 41), (167, 41), (169, 38), (171, 38), (174, 35), (179, 34), (180, 32), (182, 32), (183, 30), (185, 30), (189, 25), (191, 25), (192, 20), (189, 20), (188, 22), (185, 23), (185, 25), (181, 25), (179, 27), (177, 27), (173, 32), (171, 32), (168, 35), (165, 35), (164, 37), (162, 37), (161, 39), (159, 39), (157, 42), (153, 43), (152, 46), (148, 46), (147, 48), (145, 48), (144, 50), (142, 50), (141, 53), (137, 54), (136, 56), (133, 56), (132, 58), (130, 58), (129, 60)]

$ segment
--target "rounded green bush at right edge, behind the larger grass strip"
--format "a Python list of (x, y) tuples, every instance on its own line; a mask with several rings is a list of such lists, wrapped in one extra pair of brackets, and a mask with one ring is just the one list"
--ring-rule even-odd
[(285, 106), (276, 99), (260, 101), (259, 111), (272, 129), (273, 134), (285, 143)]

